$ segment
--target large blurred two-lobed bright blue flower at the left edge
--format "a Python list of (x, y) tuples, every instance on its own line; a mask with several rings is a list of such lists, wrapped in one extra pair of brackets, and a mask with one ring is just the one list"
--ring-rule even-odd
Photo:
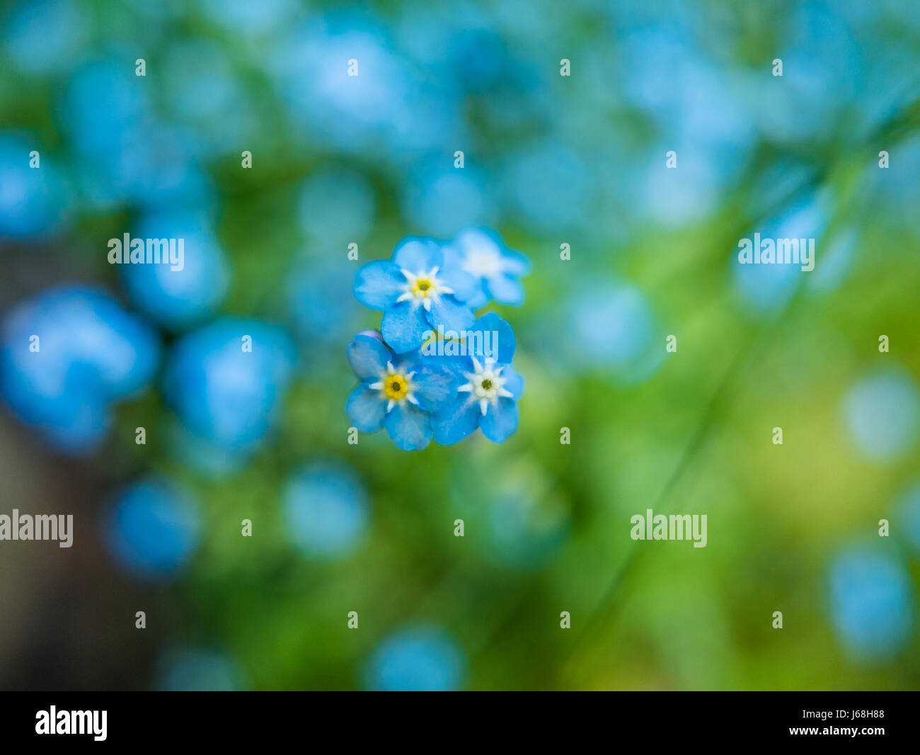
[(154, 332), (114, 299), (56, 287), (6, 314), (0, 394), (52, 447), (90, 453), (109, 432), (112, 405), (143, 389), (158, 361)]

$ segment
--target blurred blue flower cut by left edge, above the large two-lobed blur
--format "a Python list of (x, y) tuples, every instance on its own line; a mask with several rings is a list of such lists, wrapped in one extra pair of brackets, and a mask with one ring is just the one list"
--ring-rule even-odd
[[(40, 168), (29, 168), (32, 150)], [(63, 184), (49, 157), (18, 134), (0, 134), (0, 238), (45, 234), (62, 219)]]

